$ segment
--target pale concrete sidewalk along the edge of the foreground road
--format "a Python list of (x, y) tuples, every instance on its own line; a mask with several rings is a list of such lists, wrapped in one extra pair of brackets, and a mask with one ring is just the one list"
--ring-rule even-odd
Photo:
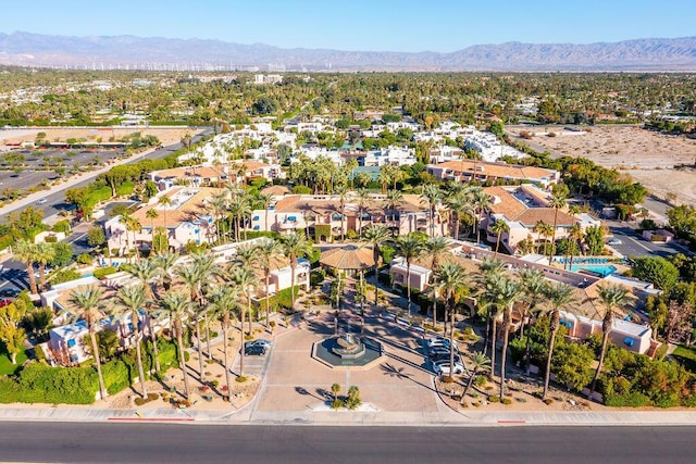
[(3, 422), (159, 422), (217, 425), (321, 425), (321, 426), (676, 426), (696, 425), (696, 412), (616, 411), (616, 412), (486, 412), (399, 413), (381, 411), (184, 411), (110, 410), (92, 407), (0, 407)]

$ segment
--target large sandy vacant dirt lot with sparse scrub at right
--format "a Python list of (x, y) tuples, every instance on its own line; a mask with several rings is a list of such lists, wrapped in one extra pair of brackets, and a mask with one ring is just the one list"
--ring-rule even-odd
[[(514, 127), (518, 134), (530, 128)], [(599, 165), (631, 174), (658, 197), (676, 195), (678, 203), (696, 203), (696, 172), (673, 168), (696, 160), (696, 140), (663, 136), (635, 126), (595, 126), (587, 134), (572, 135), (562, 127), (545, 128), (556, 137), (535, 136), (530, 141), (556, 155), (582, 156)], [(536, 147), (533, 147), (536, 148)]]

